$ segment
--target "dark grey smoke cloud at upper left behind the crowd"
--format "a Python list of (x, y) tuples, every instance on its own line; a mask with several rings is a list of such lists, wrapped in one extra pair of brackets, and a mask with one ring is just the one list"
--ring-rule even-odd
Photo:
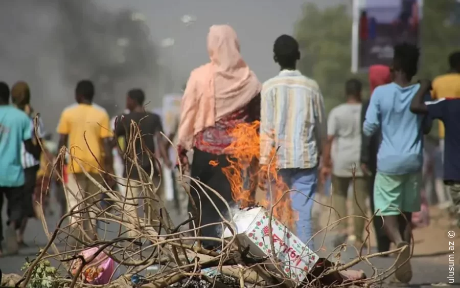
[(96, 103), (119, 113), (126, 91), (141, 87), (149, 95), (158, 73), (149, 29), (133, 15), (93, 0), (4, 0), (1, 80), (28, 81), (45, 123), (56, 122), (58, 108), (73, 102), (81, 79), (94, 81)]

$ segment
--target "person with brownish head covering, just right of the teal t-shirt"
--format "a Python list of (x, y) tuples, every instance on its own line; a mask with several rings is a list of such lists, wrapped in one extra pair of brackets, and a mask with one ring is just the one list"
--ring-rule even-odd
[[(26, 82), (19, 81), (13, 85), (11, 88), (11, 98), (13, 104), (18, 108), (24, 111), (29, 117), (32, 124), (32, 142), (34, 145), (39, 146), (38, 143), (41, 142), (41, 139), (44, 137), (43, 131), (43, 122), (41, 117), (30, 106), (30, 88)], [(37, 129), (35, 130), (34, 118), (37, 116)], [(37, 131), (37, 133), (35, 133)], [(41, 147), (40, 147), (41, 151)], [(33, 204), (33, 193), (35, 190), (36, 180), (37, 180), (37, 171), (40, 167), (40, 158), (35, 158), (31, 153), (26, 151), (24, 144), (22, 145), (21, 151), (21, 163), (24, 167), (24, 213), (25, 217), (22, 219), (22, 223), (17, 231), (17, 242), (19, 246), (26, 247), (24, 242), (24, 233), (26, 231), (27, 221), (29, 218), (35, 216), (34, 204)]]

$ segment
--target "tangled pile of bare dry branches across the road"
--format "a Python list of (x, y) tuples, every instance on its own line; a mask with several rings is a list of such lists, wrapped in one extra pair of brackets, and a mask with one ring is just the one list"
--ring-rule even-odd
[[(128, 151), (130, 147), (133, 147), (132, 143), (128, 144)], [(68, 150), (62, 148), (59, 153), (61, 153), (60, 156), (64, 156), (64, 154), (68, 154)], [(135, 154), (136, 151), (134, 149), (131, 151), (131, 155)], [(125, 157), (127, 156), (125, 155)], [(63, 158), (64, 157), (61, 157), (60, 159)], [(50, 227), (48, 227), (45, 217), (42, 215), (40, 218), (42, 219), (43, 228), (45, 233), (47, 233), (49, 241), (47, 245), (41, 249), (36, 259), (28, 265), (28, 269), (18, 283), (19, 286), (27, 287), (28, 283), (30, 283), (33, 278), (33, 272), (37, 265), (41, 261), (50, 258), (58, 260), (67, 273), (67, 275), (62, 276), (62, 279), (59, 279), (61, 285), (71, 288), (94, 286), (85, 283), (82, 274), (85, 267), (87, 267), (99, 253), (105, 253), (118, 263), (120, 267), (123, 266), (124, 269), (126, 269), (126, 273), (118, 279), (114, 279), (115, 276), (112, 275), (112, 282), (108, 286), (113, 287), (131, 285), (145, 288), (163, 288), (167, 286), (217, 286), (219, 288), (229, 288), (233, 286), (243, 288), (248, 285), (251, 287), (272, 285), (284, 287), (292, 286), (292, 283), (288, 281), (286, 275), (283, 275), (281, 269), (266, 269), (267, 262), (274, 265), (274, 267), (278, 267), (279, 263), (277, 260), (273, 259), (271, 256), (260, 258), (251, 255), (248, 247), (241, 245), (236, 237), (236, 233), (234, 233), (233, 237), (226, 239), (200, 237), (198, 233), (200, 227), (185, 229), (185, 227), (189, 227), (189, 224), (193, 220), (192, 217), (180, 225), (174, 225), (164, 201), (157, 194), (158, 187), (155, 186), (151, 180), (153, 179), (153, 175), (147, 175), (135, 158), (131, 158), (131, 160), (136, 166), (135, 169), (143, 173), (145, 176), (144, 179), (146, 179), (142, 182), (142, 190), (144, 193), (137, 201), (139, 201), (140, 206), (148, 205), (148, 209), (143, 210), (151, 211), (152, 213), (139, 215), (138, 212), (136, 217), (126, 213), (126, 210), (129, 209), (128, 207), (132, 206), (132, 201), (127, 201), (125, 196), (127, 193), (112, 190), (111, 187), (113, 186), (109, 185), (107, 181), (101, 183), (95, 179), (93, 175), (83, 169), (83, 173), (87, 180), (99, 187), (99, 197), (96, 195), (94, 198), (100, 199), (102, 195), (105, 195), (109, 200), (110, 206), (101, 206), (100, 200), (91, 201), (91, 196), (81, 199), (78, 205), (72, 207), (70, 211), (67, 211), (67, 213), (60, 218), (56, 228), (52, 232), (50, 232)], [(50, 162), (52, 161), (50, 160)], [(56, 163), (51, 164), (56, 165)], [(154, 155), (151, 155), (151, 164), (158, 164)], [(127, 181), (127, 179), (119, 179), (116, 175), (107, 173), (103, 170), (101, 170), (100, 173), (104, 176), (104, 179), (108, 177), (120, 184), (126, 183)], [(58, 176), (62, 180), (62, 176)], [(197, 183), (197, 186), (205, 187), (203, 183), (200, 183), (196, 179), (191, 179), (187, 175), (182, 175), (178, 181), (181, 181), (181, 185), (183, 186), (194, 181)], [(66, 195), (75, 193), (75, 191), (70, 191), (66, 186), (64, 189)], [(212, 189), (208, 190), (219, 195), (218, 191)], [(186, 191), (188, 191), (188, 189), (186, 189)], [(188, 193), (190, 194), (190, 192)], [(202, 193), (205, 194), (206, 191), (203, 189)], [(221, 200), (224, 201), (223, 199)], [(130, 208), (132, 209), (133, 207)], [(228, 213), (232, 215), (231, 207), (229, 207), (228, 204), (227, 208)], [(209, 209), (213, 208), (209, 207)], [(67, 224), (67, 220), (71, 217), (74, 218), (74, 221), (78, 224), (77, 226), (72, 227)], [(88, 220), (97, 220), (100, 224), (116, 224), (119, 227), (117, 237), (113, 239), (105, 239), (105, 237), (88, 237), (88, 230), (84, 227), (84, 223), (88, 223)], [(335, 223), (331, 223), (331, 225), (334, 224)], [(97, 227), (95, 225), (96, 224), (92, 224), (90, 229), (96, 231)], [(236, 231), (232, 221), (228, 221), (224, 217), (222, 217), (221, 225), (223, 228), (228, 228), (230, 231)], [(325, 227), (323, 230), (327, 228), (328, 227)], [(128, 237), (127, 231), (131, 231), (130, 235), (134, 234), (137, 236)], [(367, 228), (367, 231), (367, 239), (369, 239), (369, 228)], [(80, 235), (80, 237), (76, 235)], [(86, 236), (81, 237), (81, 235)], [(221, 249), (219, 251), (203, 249), (200, 246), (200, 240), (204, 239), (212, 239), (220, 242)], [(65, 245), (62, 245), (62, 243)], [(84, 249), (94, 247), (98, 249), (92, 257), (85, 258), (80, 255)], [(363, 250), (363, 248), (361, 248), (361, 250)], [(361, 252), (362, 251), (360, 251), (359, 255), (361, 255)], [(334, 280), (325, 280), (328, 276), (349, 269), (360, 261), (365, 261), (373, 267), (369, 261), (370, 258), (394, 252), (398, 251), (358, 256), (357, 259), (347, 264), (332, 264), (329, 268), (322, 269), (316, 273), (316, 275), (308, 277), (308, 281), (294, 284), (305, 287), (333, 285), (335, 283)], [(74, 268), (72, 271), (72, 263), (75, 260), (79, 260), (81, 265), (78, 269), (75, 270)], [(139, 276), (143, 275), (143, 272), (152, 265), (156, 265), (158, 268), (155, 273)], [(206, 273), (210, 268), (218, 271), (218, 276)], [(377, 269), (375, 269), (375, 273), (372, 277), (356, 282), (351, 281), (348, 282), (347, 285), (369, 286), (387, 277), (393, 270), (394, 267), (383, 272), (378, 272)], [(138, 281), (133, 281), (133, 279), (137, 279)], [(330, 283), (328, 283), (328, 281)], [(341, 283), (339, 286), (341, 285), (344, 285), (344, 283)]]

